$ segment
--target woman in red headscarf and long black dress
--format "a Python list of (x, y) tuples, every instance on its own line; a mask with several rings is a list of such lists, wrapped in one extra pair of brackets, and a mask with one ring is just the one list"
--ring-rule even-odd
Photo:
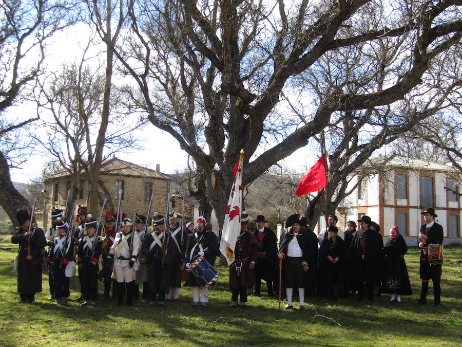
[(390, 229), (390, 240), (383, 247), (385, 266), (381, 292), (392, 294), (390, 302), (395, 300), (401, 302), (401, 295), (412, 294), (408, 269), (404, 260), (407, 251), (406, 241), (399, 234), (399, 229), (395, 225)]

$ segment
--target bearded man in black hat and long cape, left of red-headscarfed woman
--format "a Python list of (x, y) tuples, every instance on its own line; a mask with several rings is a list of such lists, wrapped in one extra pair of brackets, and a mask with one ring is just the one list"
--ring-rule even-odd
[(382, 235), (370, 228), (371, 217), (363, 215), (358, 222), (361, 230), (356, 232), (351, 244), (358, 301), (364, 298), (364, 285), (367, 287), (368, 300), (374, 301), (374, 285), (380, 285), (382, 279), (383, 239)]

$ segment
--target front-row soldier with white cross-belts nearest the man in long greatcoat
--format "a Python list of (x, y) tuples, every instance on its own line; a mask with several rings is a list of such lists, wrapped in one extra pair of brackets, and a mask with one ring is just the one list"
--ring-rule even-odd
[(68, 227), (67, 222), (61, 220), (61, 217), (57, 218), (56, 231), (58, 236), (54, 238), (47, 258), (47, 264), (53, 268), (55, 304), (63, 306), (67, 306), (67, 298), (70, 295), (66, 266), (74, 259), (74, 240), (71, 235), (66, 240)]

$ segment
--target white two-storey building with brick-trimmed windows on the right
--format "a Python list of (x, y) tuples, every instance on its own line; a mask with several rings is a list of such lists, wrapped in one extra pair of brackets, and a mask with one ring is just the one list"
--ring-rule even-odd
[[(346, 221), (368, 215), (385, 237), (389, 236), (390, 228), (397, 225), (407, 244), (415, 246), (424, 223), (420, 212), (434, 207), (438, 215), (436, 221), (444, 230), (444, 244), (462, 244), (461, 198), (445, 189), (460, 191), (456, 180), (451, 178), (453, 167), (397, 156), (390, 160), (378, 157), (373, 163), (376, 173), (359, 182), (354, 193), (344, 200), (343, 207), (338, 208)], [(357, 182), (353, 178), (351, 184)]]

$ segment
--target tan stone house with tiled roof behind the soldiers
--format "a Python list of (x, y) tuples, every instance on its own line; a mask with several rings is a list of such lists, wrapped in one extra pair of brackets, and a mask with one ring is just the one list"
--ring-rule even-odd
[[(146, 215), (151, 193), (154, 192), (150, 214), (152, 216), (155, 211), (165, 214), (167, 192), (171, 189), (172, 177), (161, 173), (159, 169), (159, 165), (156, 170), (151, 170), (115, 157), (103, 160), (100, 179), (106, 192), (110, 194), (114, 210), (117, 209), (121, 193), (121, 208), (128, 218), (133, 217), (134, 211)], [(67, 171), (56, 173), (47, 177), (45, 184), (42, 226), (47, 228), (50, 223), (51, 209), (53, 207), (64, 209), (66, 205), (67, 191), (71, 186), (71, 175)], [(81, 187), (77, 203), (86, 206), (89, 182), (83, 181)], [(101, 199), (105, 197), (101, 188), (100, 196)], [(106, 210), (109, 209), (106, 208)], [(89, 212), (96, 218), (100, 213), (100, 211)]]

